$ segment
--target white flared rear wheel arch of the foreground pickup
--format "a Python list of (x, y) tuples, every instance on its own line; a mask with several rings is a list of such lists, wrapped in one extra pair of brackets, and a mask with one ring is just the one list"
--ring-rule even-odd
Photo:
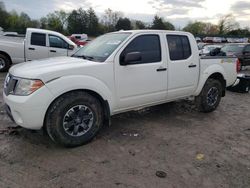
[(218, 64), (214, 64), (214, 65), (210, 65), (208, 66), (205, 70), (203, 70), (202, 72), (200, 72), (200, 81), (198, 83), (198, 87), (194, 93), (195, 96), (198, 96), (204, 86), (204, 84), (206, 83), (207, 79), (215, 73), (219, 73), (223, 76), (223, 78), (226, 78), (226, 73), (225, 70), (223, 69), (222, 66), (218, 65)]

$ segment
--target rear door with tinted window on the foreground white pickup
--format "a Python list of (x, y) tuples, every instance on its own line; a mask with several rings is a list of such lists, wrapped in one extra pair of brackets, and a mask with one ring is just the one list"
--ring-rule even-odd
[[(198, 49), (191, 36), (167, 34), (168, 48), (168, 99), (193, 94), (199, 80)], [(192, 42), (191, 42), (192, 41)]]

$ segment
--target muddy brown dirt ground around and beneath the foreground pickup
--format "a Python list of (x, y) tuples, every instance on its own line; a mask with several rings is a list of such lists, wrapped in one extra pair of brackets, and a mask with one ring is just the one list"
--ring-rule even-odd
[[(6, 129), (14, 124), (2, 105), (1, 94), (0, 129)], [(250, 94), (227, 92), (208, 114), (179, 101), (117, 115), (74, 149), (53, 144), (42, 131), (2, 132), (0, 187), (249, 188)]]

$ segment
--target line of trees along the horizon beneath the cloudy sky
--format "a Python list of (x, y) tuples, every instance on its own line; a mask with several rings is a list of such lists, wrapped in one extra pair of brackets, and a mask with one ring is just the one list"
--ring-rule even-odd
[[(27, 27), (49, 29), (69, 35), (72, 33), (86, 33), (97, 36), (106, 32), (130, 29), (160, 29), (176, 30), (174, 25), (155, 15), (151, 23), (140, 20), (131, 20), (123, 16), (122, 12), (107, 9), (101, 18), (97, 16), (93, 8), (84, 10), (79, 8), (67, 13), (63, 10), (54, 11), (39, 20), (34, 20), (28, 14), (16, 11), (8, 12), (4, 3), (0, 1), (0, 27), (5, 31), (25, 33)], [(241, 29), (233, 15), (223, 16), (218, 24), (195, 21), (189, 22), (182, 30), (194, 35), (231, 35), (250, 36), (249, 28)]]

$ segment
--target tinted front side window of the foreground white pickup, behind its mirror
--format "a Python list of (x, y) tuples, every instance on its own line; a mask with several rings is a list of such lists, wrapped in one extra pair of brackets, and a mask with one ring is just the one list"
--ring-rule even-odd
[(120, 61), (123, 62), (126, 54), (140, 52), (141, 60), (133, 64), (154, 63), (161, 61), (161, 45), (159, 35), (141, 35), (133, 39), (123, 50)]

